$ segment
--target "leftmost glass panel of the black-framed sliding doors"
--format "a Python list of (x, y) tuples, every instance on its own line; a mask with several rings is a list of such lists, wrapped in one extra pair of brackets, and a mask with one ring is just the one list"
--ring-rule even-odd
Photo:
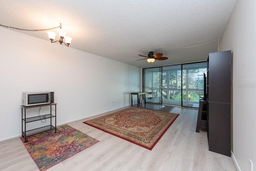
[(162, 67), (144, 69), (143, 81), (146, 102), (162, 104)]

